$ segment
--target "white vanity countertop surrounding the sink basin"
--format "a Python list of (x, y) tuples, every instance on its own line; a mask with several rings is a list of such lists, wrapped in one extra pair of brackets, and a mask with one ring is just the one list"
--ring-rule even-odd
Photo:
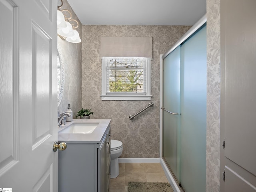
[[(58, 141), (65, 141), (66, 143), (100, 143), (107, 128), (110, 127), (110, 121), (110, 119), (73, 119), (73, 121), (66, 122), (66, 125), (58, 128)], [(90, 134), (60, 133), (60, 131), (73, 123), (99, 123), (99, 125)]]

